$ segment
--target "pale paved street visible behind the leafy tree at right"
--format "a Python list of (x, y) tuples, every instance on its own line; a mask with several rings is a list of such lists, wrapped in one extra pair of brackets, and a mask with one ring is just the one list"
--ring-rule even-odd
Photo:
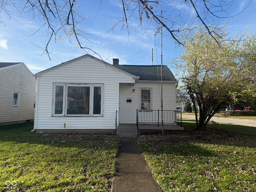
[[(182, 119), (196, 120), (194, 115), (183, 115), (183, 114), (182, 114)], [(256, 121), (254, 120), (240, 120), (240, 119), (224, 118), (224, 117), (212, 117), (211, 120), (218, 123), (256, 127)]]

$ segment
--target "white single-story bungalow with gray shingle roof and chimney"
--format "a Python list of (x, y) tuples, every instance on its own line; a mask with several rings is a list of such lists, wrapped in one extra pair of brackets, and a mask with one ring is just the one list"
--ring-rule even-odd
[[(108, 64), (86, 54), (35, 74), (34, 130), (114, 134), (121, 125), (152, 121), (161, 108), (160, 66)], [(176, 110), (177, 80), (163, 66), (163, 108)], [(148, 114), (138, 112), (148, 111)], [(156, 110), (156, 111), (154, 111)], [(155, 116), (155, 115), (154, 115)], [(171, 124), (176, 124), (176, 114)], [(151, 119), (150, 119), (151, 118)], [(169, 117), (168, 117), (169, 118)]]

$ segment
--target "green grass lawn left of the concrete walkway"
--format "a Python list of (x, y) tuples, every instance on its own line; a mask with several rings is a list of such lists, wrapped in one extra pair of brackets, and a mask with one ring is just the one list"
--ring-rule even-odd
[(32, 129), (31, 122), (0, 127), (0, 191), (6, 181), (26, 192), (111, 190), (118, 138)]

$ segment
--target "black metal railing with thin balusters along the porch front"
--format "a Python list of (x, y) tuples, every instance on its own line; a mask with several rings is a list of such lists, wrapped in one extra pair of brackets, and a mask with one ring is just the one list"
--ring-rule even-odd
[[(138, 110), (137, 109), (137, 127), (140, 123), (161, 124), (161, 110)], [(164, 124), (179, 124), (182, 126), (181, 111), (163, 110)]]

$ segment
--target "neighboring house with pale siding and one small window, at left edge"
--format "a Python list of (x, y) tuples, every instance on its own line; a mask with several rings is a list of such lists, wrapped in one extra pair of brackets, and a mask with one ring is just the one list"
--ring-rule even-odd
[(36, 79), (24, 63), (0, 62), (0, 125), (34, 119)]

